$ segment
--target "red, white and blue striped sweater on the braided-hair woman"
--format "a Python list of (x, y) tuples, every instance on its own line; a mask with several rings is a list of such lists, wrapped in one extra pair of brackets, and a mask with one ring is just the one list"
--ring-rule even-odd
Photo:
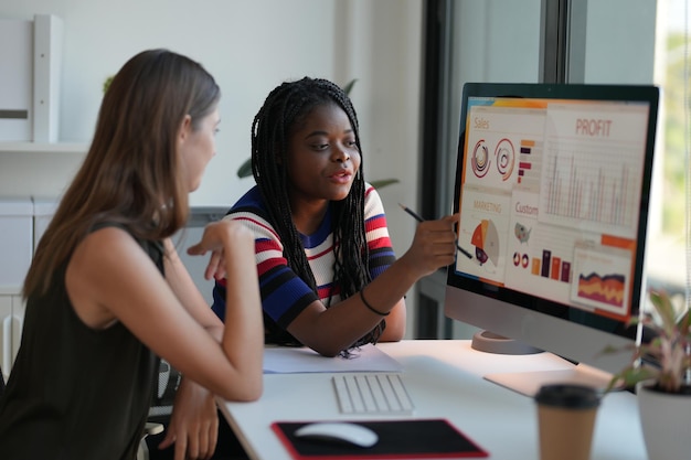
[[(386, 216), (381, 199), (373, 186), (366, 184), (364, 200), (364, 218), (366, 242), (370, 249), (370, 274), (372, 279), (381, 275), (395, 260), (389, 237)], [(242, 222), (255, 235), (255, 257), (265, 321), (275, 322), (281, 330), (311, 302), (317, 295), (288, 267), (283, 254), (283, 245), (268, 221), (262, 194), (257, 186), (249, 190), (228, 211), (224, 218)], [(331, 232), (331, 213), (312, 235), (300, 235), (305, 254), (309, 261), (319, 299), (328, 304), (341, 300), (338, 286), (333, 285), (333, 234)], [(213, 311), (223, 320), (225, 317), (225, 279), (215, 284), (213, 291)], [(273, 328), (269, 328), (273, 329)]]

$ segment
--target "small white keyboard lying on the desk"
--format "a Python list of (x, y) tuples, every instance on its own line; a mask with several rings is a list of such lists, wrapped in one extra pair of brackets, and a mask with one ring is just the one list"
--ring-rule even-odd
[(341, 414), (412, 414), (415, 408), (400, 374), (363, 372), (332, 379)]

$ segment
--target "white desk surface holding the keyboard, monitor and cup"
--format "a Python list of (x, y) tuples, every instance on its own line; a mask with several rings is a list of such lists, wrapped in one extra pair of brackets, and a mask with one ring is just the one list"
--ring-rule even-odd
[[(470, 341), (403, 341), (378, 345), (404, 366), (405, 386), (415, 404), (412, 418), (447, 418), (490, 459), (536, 460), (536, 408), (527, 396), (483, 379), (487, 373), (566, 368), (551, 354), (503, 356), (475, 351)], [(382, 416), (339, 413), (332, 374), (267, 374), (254, 403), (220, 404), (251, 458), (289, 460), (269, 428), (275, 420), (373, 420)], [(400, 416), (398, 416), (400, 417)], [(644, 460), (646, 450), (636, 397), (610, 393), (599, 407), (591, 460)]]

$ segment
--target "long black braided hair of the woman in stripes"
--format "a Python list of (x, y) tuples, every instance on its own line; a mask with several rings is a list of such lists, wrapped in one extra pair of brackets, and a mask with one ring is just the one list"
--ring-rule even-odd
[[(269, 93), (252, 124), (252, 173), (264, 199), (272, 225), (284, 245), (288, 266), (317, 292), (315, 275), (309, 266), (300, 235), (293, 222), (288, 197), (290, 136), (320, 106), (337, 105), (348, 116), (362, 154), (358, 117), (348, 95), (338, 85), (322, 78), (305, 77), (286, 82)], [(342, 299), (358, 293), (372, 277), (364, 228), (364, 174), (360, 162), (350, 193), (344, 200), (331, 202), (334, 248), (333, 286)], [(329, 296), (327, 308), (331, 304)], [(353, 346), (376, 342), (385, 327), (378, 327)], [(277, 332), (277, 331), (275, 331)]]

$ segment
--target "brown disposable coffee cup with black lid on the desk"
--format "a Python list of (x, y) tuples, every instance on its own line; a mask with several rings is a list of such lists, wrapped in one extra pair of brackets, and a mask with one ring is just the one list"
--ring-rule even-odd
[(540, 460), (588, 460), (599, 395), (589, 386), (544, 385), (535, 395)]

